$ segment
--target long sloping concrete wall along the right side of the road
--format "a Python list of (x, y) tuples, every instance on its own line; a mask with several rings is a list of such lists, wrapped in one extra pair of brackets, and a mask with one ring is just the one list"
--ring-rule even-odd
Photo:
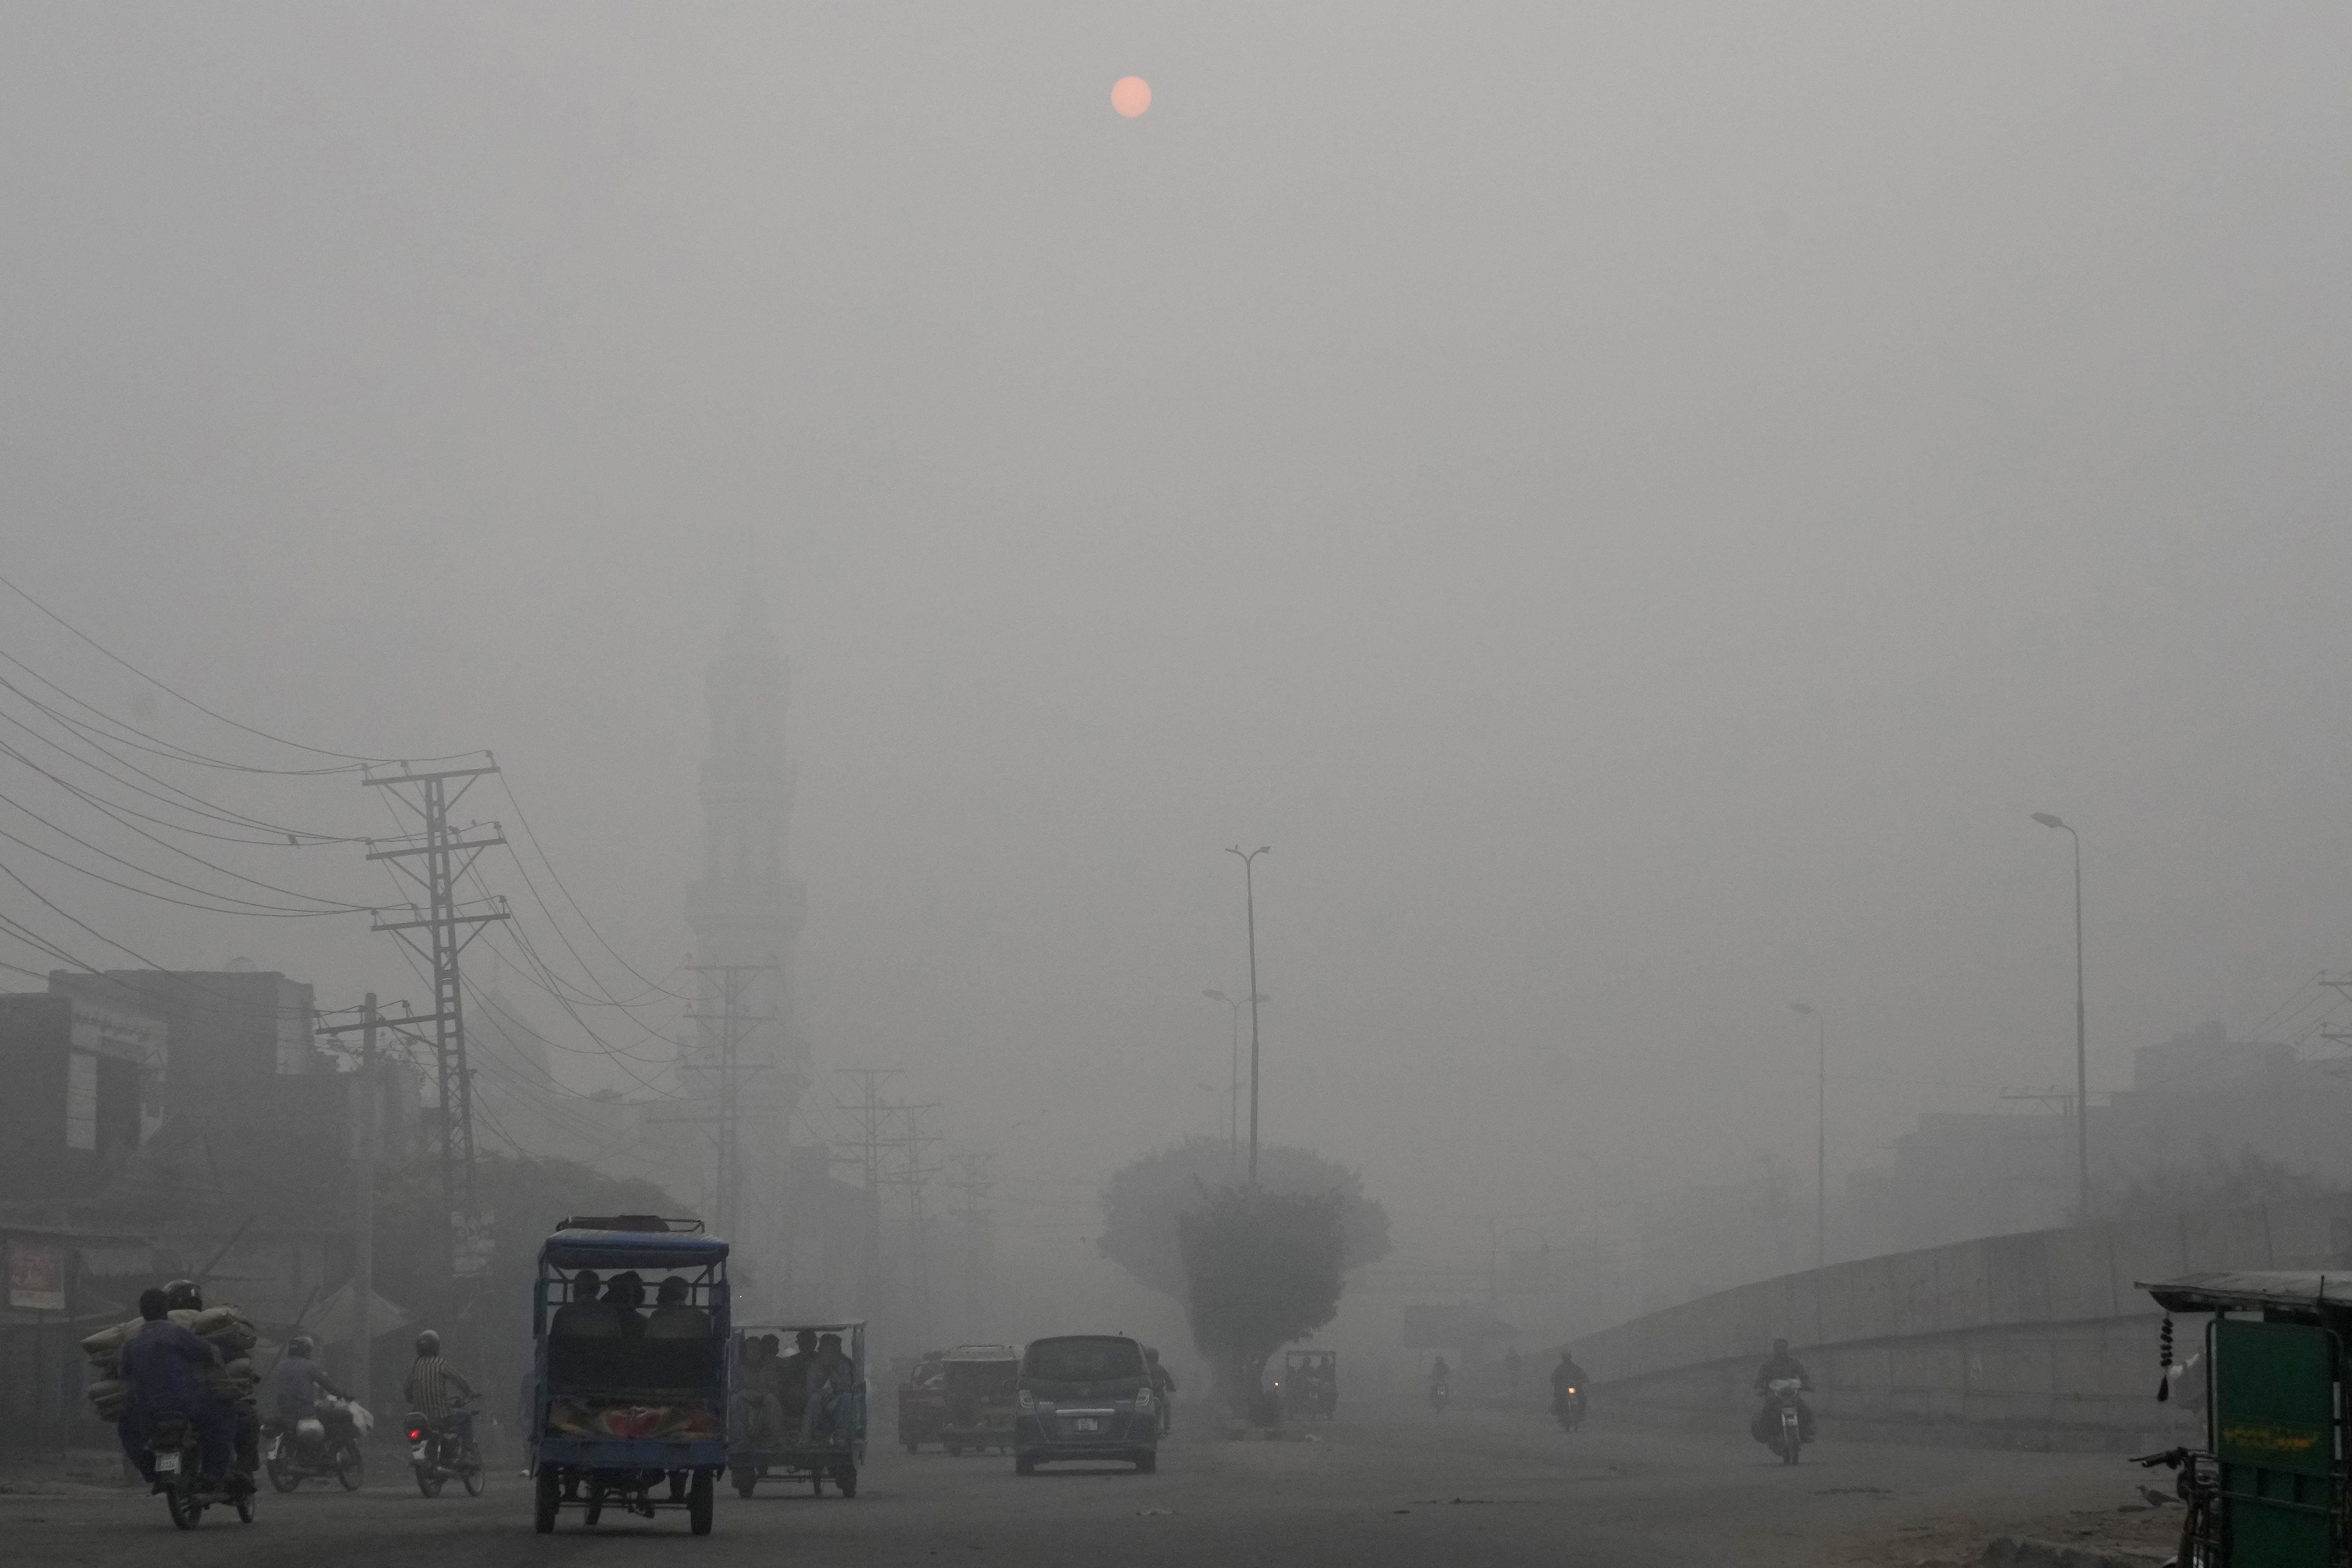
[[(1776, 1338), (1813, 1408), (1910, 1441), (2107, 1448), (2192, 1432), (2159, 1406), (2161, 1312), (2136, 1281), (2352, 1272), (2352, 1197), (1985, 1237), (1764, 1279), (1573, 1340), (1604, 1403), (1745, 1420)], [(2176, 1354), (2199, 1321), (2176, 1324)]]

